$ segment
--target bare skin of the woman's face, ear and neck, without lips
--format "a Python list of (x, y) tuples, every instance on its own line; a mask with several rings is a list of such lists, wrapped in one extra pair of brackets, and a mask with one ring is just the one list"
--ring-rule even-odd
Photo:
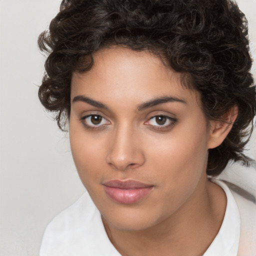
[[(199, 93), (146, 51), (115, 46), (93, 59), (90, 71), (72, 76), (69, 136), (110, 241), (122, 255), (201, 255), (226, 206), (223, 190), (206, 177), (208, 148), (219, 145), (231, 125), (206, 120)], [(162, 97), (180, 101), (145, 104)], [(235, 110), (225, 116), (230, 122)], [(92, 114), (102, 116), (98, 124)], [(166, 116), (163, 124), (159, 115)], [(102, 185), (111, 179), (153, 189), (135, 203), (117, 203)]]

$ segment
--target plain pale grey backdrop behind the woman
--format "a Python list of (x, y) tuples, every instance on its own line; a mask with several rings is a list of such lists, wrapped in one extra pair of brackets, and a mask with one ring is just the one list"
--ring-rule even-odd
[[(256, 0), (237, 2), (249, 21), (254, 58)], [(4, 256), (38, 255), (47, 223), (84, 191), (68, 134), (58, 130), (37, 98), (45, 59), (38, 51), (37, 36), (59, 4), (60, 0), (0, 0), (0, 255)], [(252, 72), (256, 73), (255, 66)], [(248, 145), (248, 155), (254, 159), (255, 140), (254, 134)], [(251, 178), (254, 172), (246, 170)]]

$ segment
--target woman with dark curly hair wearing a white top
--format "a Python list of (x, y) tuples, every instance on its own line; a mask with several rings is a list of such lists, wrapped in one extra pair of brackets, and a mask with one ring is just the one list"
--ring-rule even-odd
[(39, 98), (68, 122), (87, 192), (48, 225), (41, 256), (253, 255), (253, 195), (214, 178), (249, 164), (246, 36), (226, 0), (62, 1), (39, 37)]

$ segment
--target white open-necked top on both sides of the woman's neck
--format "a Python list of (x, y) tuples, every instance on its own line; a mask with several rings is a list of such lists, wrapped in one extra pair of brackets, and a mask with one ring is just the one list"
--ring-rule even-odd
[[(256, 252), (255, 254), (243, 254), (246, 248), (242, 248), (240, 254), (237, 254), (240, 236), (239, 210), (229, 188), (222, 181), (213, 180), (213, 182), (220, 185), (225, 191), (227, 205), (220, 230), (203, 256), (256, 255)], [(244, 199), (239, 198), (239, 200)], [(247, 231), (246, 228), (244, 230)], [(252, 237), (256, 238), (255, 233)], [(244, 242), (242, 241), (242, 243)], [(248, 253), (251, 251), (248, 250)], [(40, 248), (40, 256), (86, 255), (120, 256), (109, 241), (100, 213), (87, 192), (48, 224)]]

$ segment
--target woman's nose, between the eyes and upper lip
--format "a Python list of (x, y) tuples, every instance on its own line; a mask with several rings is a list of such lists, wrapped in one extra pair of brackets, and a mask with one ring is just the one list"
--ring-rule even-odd
[(139, 134), (127, 125), (113, 131), (106, 161), (118, 170), (143, 165), (145, 157)]

